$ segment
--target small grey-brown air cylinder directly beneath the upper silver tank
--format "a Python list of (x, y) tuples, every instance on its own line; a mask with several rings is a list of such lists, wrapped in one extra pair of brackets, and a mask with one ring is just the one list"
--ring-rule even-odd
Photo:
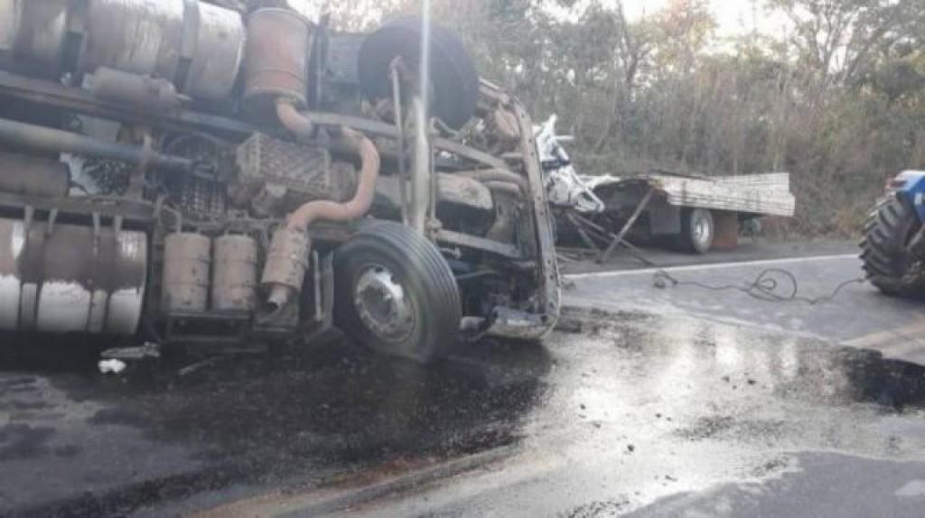
[(129, 74), (114, 68), (99, 68), (88, 76), (89, 90), (105, 101), (139, 106), (152, 113), (179, 108), (179, 95), (166, 79)]

